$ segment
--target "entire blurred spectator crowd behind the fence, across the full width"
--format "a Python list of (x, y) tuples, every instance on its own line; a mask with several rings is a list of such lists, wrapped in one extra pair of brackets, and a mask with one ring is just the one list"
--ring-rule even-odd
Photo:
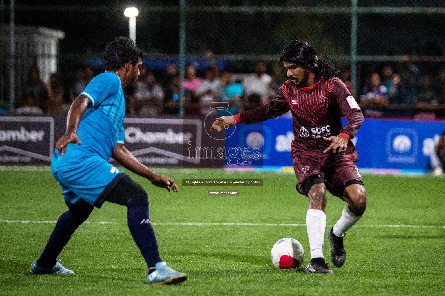
[[(206, 51), (210, 66), (198, 73), (196, 63), (185, 67), (184, 111), (186, 115), (207, 115), (210, 103), (227, 102), (229, 112), (237, 114), (268, 103), (287, 79), (286, 71), (275, 63), (267, 71), (263, 62), (255, 63), (251, 74), (235, 74), (218, 68), (214, 55)], [(98, 74), (93, 66), (77, 70), (76, 80), (64, 89), (60, 75), (52, 74), (48, 82), (40, 80), (36, 67), (28, 69), (24, 95), (16, 102), (16, 114), (38, 115), (64, 113), (72, 101)], [(200, 77), (202, 76), (202, 77)], [(340, 79), (351, 90), (350, 71), (340, 72)], [(414, 117), (434, 119), (445, 117), (445, 69), (438, 75), (421, 75), (419, 69), (404, 57), (398, 68), (383, 65), (366, 78), (357, 95), (367, 117)], [(165, 71), (152, 71), (146, 65), (134, 88), (125, 89), (127, 113), (142, 117), (179, 114), (180, 79), (178, 67), (170, 64)]]

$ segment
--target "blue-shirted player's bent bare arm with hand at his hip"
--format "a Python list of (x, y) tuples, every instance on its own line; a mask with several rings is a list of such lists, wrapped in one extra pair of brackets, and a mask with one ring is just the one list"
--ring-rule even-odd
[(66, 118), (66, 133), (56, 143), (56, 150), (59, 152), (59, 155), (65, 155), (66, 146), (69, 143), (82, 144), (77, 137), (77, 128), (89, 106), (91, 106), (91, 100), (86, 95), (79, 95), (69, 108), (68, 117)]

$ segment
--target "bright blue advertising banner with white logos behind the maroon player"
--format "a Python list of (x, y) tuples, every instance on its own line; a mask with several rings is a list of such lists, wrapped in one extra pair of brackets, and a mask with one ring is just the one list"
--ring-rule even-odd
[[(342, 122), (345, 125), (346, 119)], [(359, 168), (381, 169), (382, 172), (425, 172), (431, 169), (429, 155), (433, 153), (443, 130), (443, 120), (367, 118), (352, 140), (359, 155), (356, 164)], [(290, 118), (279, 117), (257, 124), (240, 124), (226, 140), (226, 147), (252, 146), (254, 142), (259, 142), (260, 134), (264, 143), (263, 167), (292, 166), (290, 151), (294, 135)]]

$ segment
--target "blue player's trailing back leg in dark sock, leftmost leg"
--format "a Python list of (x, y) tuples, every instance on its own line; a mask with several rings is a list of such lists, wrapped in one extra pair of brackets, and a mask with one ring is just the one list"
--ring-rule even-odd
[(88, 218), (94, 206), (80, 199), (75, 204), (68, 204), (68, 208), (69, 210), (63, 213), (59, 217), (59, 220), (57, 220), (56, 227), (54, 227), (53, 233), (51, 233), (40, 258), (32, 263), (29, 268), (32, 273), (74, 273), (57, 262), (57, 256), (59, 256), (62, 249), (68, 243), (77, 227)]

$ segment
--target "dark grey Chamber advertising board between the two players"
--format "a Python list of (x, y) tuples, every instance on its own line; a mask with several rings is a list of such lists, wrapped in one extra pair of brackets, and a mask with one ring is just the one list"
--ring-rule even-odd
[(223, 167), (215, 151), (224, 148), (224, 141), (209, 136), (209, 122), (204, 117), (125, 118), (124, 146), (146, 166)]

